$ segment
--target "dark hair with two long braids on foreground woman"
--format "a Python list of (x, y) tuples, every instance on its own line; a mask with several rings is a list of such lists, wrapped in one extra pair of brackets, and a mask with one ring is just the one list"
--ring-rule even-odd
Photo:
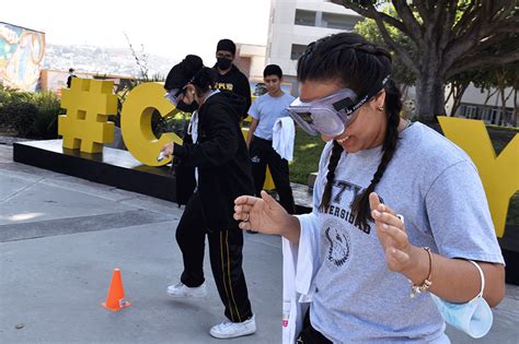
[[(336, 81), (343, 87), (353, 90), (358, 96), (367, 94), (374, 84), (380, 83), (390, 73), (390, 54), (354, 33), (339, 33), (311, 43), (298, 61), (299, 82), (307, 80)], [(356, 226), (367, 226), (367, 222), (371, 217), (369, 194), (380, 182), (396, 149), (399, 114), (402, 110), (401, 94), (391, 80), (385, 83), (384, 90), (388, 124), (382, 143), (383, 154), (370, 185), (354, 200), (351, 210)], [(326, 173), (326, 185), (320, 204), (320, 210), (323, 212), (330, 206), (335, 169), (342, 153), (343, 147), (334, 141)]]

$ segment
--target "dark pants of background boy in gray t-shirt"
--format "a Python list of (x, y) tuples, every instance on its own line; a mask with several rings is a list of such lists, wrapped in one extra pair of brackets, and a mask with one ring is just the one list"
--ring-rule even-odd
[(252, 177), (254, 178), (254, 192), (260, 197), (260, 192), (265, 183), (265, 175), (270, 168), (274, 185), (276, 186), (279, 203), (289, 214), (293, 214), (293, 195), (290, 188), (288, 162), (273, 149), (273, 142), (254, 137), (249, 149), (252, 162)]

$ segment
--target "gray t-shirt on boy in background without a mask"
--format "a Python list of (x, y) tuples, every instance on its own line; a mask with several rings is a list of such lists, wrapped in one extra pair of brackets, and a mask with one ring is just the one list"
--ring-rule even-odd
[(287, 93), (279, 97), (273, 97), (267, 93), (254, 100), (249, 109), (249, 115), (260, 121), (254, 135), (264, 140), (272, 140), (274, 123), (278, 118), (287, 116), (284, 111), (293, 99), (295, 97)]

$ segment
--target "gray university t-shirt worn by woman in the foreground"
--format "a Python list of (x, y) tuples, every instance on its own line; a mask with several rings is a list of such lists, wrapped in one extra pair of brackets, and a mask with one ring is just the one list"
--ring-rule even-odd
[[(328, 143), (321, 157), (314, 213), (331, 149)], [(381, 147), (343, 153), (335, 169), (328, 212), (318, 213), (320, 268), (312, 325), (335, 343), (448, 343), (428, 293), (411, 299), (408, 280), (387, 268), (374, 223), (365, 228), (353, 225), (351, 202), (368, 187), (381, 156)], [(416, 122), (401, 133), (376, 191), (404, 215), (412, 245), (449, 258), (504, 263), (475, 166), (428, 127)]]

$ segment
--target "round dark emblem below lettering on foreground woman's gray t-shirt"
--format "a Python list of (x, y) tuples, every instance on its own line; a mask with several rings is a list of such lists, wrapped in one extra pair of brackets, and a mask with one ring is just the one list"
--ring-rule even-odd
[(343, 268), (351, 256), (351, 242), (349, 234), (345, 230), (344, 224), (336, 220), (326, 220), (323, 223), (326, 265), (336, 270)]

